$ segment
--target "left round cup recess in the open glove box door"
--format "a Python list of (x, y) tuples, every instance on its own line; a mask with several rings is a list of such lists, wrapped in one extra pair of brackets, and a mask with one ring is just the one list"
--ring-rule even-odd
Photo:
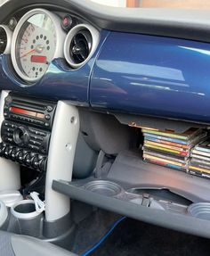
[(115, 196), (120, 194), (122, 187), (109, 180), (94, 180), (85, 185), (85, 189), (97, 194)]

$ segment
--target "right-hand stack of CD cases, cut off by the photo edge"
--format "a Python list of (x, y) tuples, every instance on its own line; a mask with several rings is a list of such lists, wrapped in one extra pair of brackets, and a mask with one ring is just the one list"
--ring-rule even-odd
[(210, 178), (210, 136), (192, 149), (189, 172), (199, 177)]

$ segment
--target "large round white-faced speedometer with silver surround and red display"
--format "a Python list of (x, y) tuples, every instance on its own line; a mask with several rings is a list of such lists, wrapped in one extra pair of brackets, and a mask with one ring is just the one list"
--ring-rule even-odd
[(12, 64), (20, 78), (34, 82), (61, 56), (64, 32), (58, 16), (44, 9), (25, 14), (12, 38)]

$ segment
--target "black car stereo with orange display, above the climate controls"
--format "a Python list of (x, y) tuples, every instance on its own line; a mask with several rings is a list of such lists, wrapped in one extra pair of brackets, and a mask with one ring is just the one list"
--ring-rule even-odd
[(51, 129), (55, 108), (56, 104), (52, 102), (8, 95), (4, 103), (4, 119)]

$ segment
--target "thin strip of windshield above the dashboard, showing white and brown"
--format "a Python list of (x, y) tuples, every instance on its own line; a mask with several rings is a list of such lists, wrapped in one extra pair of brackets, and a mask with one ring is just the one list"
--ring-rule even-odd
[(91, 0), (98, 4), (136, 8), (210, 9), (209, 0)]

